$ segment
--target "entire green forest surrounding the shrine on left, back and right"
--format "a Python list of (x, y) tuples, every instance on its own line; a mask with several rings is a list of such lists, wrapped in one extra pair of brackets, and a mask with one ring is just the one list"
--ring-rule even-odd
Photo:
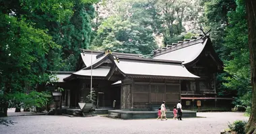
[(36, 88), (49, 83), (49, 70), (75, 70), (79, 48), (150, 58), (152, 50), (198, 36), (200, 27), (211, 29), (214, 48), (224, 61), (224, 72), (218, 74), (218, 95), (234, 96), (234, 105), (250, 110), (251, 74), (243, 0), (0, 3), (0, 111), (11, 105), (42, 107), (48, 93), (36, 92)]

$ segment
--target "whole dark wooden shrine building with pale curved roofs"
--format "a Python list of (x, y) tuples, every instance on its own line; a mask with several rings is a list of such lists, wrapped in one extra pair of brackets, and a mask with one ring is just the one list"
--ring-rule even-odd
[(75, 108), (92, 88), (96, 107), (128, 111), (154, 111), (162, 101), (172, 108), (182, 100), (183, 109), (230, 109), (232, 98), (216, 95), (216, 73), (223, 63), (208, 36), (186, 39), (154, 50), (153, 58), (139, 54), (82, 50), (75, 72), (57, 72), (63, 107)]

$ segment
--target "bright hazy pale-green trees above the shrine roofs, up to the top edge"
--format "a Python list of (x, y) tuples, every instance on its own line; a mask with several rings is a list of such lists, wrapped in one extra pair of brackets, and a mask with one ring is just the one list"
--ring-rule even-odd
[[(196, 6), (197, 5), (197, 6)], [(150, 57), (158, 46), (183, 40), (185, 22), (196, 27), (201, 7), (191, 1), (113, 1), (92, 42), (94, 50), (129, 52)], [(97, 19), (98, 20), (98, 19)], [(194, 30), (196, 31), (196, 30)], [(163, 38), (163, 39), (162, 39)]]

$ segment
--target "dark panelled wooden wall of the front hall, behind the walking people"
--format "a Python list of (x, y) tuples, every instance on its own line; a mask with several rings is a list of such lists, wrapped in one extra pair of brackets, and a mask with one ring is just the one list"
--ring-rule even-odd
[(180, 81), (131, 79), (122, 84), (121, 98), (121, 109), (147, 110), (164, 100), (167, 104), (176, 104), (181, 98)]

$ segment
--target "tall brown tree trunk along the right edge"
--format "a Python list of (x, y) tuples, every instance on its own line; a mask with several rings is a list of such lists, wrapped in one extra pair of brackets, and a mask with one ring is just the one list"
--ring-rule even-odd
[(245, 1), (247, 7), (248, 40), (251, 61), (251, 84), (253, 86), (251, 116), (245, 131), (247, 134), (251, 134), (256, 133), (256, 1)]

